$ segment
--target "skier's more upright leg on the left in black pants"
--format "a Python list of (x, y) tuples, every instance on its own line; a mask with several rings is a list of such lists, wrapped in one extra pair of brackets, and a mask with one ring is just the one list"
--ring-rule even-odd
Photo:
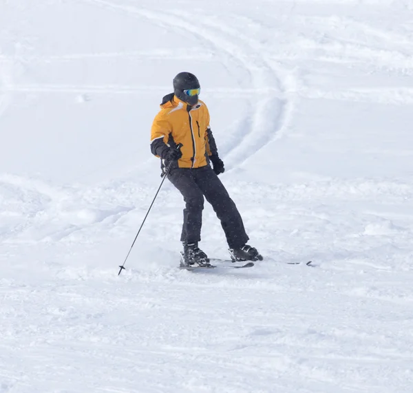
[(194, 244), (201, 240), (202, 210), (204, 197), (195, 183), (191, 169), (175, 168), (168, 175), (171, 183), (184, 197), (184, 222), (182, 225), (181, 242)]

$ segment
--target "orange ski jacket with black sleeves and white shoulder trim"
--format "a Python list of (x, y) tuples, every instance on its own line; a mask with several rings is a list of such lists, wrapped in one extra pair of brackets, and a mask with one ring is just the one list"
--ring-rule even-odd
[[(207, 105), (200, 100), (191, 107), (171, 93), (163, 98), (153, 120), (151, 152), (163, 161), (169, 147), (176, 148), (179, 143), (182, 143), (179, 168), (204, 167), (209, 164), (209, 156), (218, 156)], [(164, 166), (167, 164), (162, 162)]]

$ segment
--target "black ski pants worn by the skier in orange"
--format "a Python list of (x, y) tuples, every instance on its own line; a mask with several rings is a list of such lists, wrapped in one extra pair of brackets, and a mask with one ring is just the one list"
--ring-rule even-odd
[(210, 165), (195, 169), (173, 168), (168, 178), (182, 193), (186, 204), (181, 242), (200, 242), (205, 197), (221, 221), (229, 248), (246, 244), (248, 236), (240, 212)]

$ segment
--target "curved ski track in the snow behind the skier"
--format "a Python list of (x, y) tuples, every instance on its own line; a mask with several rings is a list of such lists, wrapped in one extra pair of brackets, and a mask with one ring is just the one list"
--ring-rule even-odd
[[(180, 12), (176, 15), (176, 21), (184, 19), (179, 26), (187, 28), (187, 26), (191, 26), (189, 23), (191, 17), (191, 14), (184, 16)], [(284, 112), (288, 111), (290, 114), (292, 109), (288, 107), (288, 102), (280, 100), (279, 96), (284, 95), (280, 86), (281, 81), (275, 70), (266, 63), (262, 54), (253, 49), (257, 45), (256, 41), (240, 33), (239, 30), (227, 27), (226, 23), (217, 17), (200, 16), (200, 21), (202, 21), (202, 28), (196, 26), (189, 32), (200, 34), (204, 39), (209, 39), (218, 49), (237, 59), (242, 67), (248, 71), (253, 88), (260, 92), (259, 95), (252, 94), (250, 102), (250, 105), (253, 106), (252, 113), (238, 122), (241, 127), (235, 130), (235, 145), (231, 148), (224, 147), (226, 161), (235, 167), (242, 164), (247, 158), (251, 158), (254, 153), (273, 140), (275, 135), (277, 137), (281, 135), (280, 131), (286, 123)], [(239, 45), (239, 42), (244, 45)], [(248, 45), (248, 52), (246, 52), (246, 45)], [(268, 86), (271, 86), (271, 89), (268, 89)], [(273, 96), (274, 86), (279, 88), (276, 96)], [(244, 159), (240, 160), (239, 157)]]

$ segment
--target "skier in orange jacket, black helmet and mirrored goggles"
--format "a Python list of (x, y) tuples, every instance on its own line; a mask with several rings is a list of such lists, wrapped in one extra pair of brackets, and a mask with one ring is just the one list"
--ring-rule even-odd
[(199, 94), (198, 78), (180, 72), (173, 79), (173, 93), (163, 98), (151, 129), (151, 152), (161, 158), (162, 175), (171, 163), (167, 177), (182, 193), (186, 204), (180, 238), (184, 246), (182, 264), (211, 266), (207, 254), (198, 247), (204, 197), (221, 221), (231, 259), (261, 260), (257, 249), (246, 244), (248, 236), (241, 215), (218, 178), (224, 173), (224, 162), (218, 156), (209, 127), (207, 105), (198, 100)]

